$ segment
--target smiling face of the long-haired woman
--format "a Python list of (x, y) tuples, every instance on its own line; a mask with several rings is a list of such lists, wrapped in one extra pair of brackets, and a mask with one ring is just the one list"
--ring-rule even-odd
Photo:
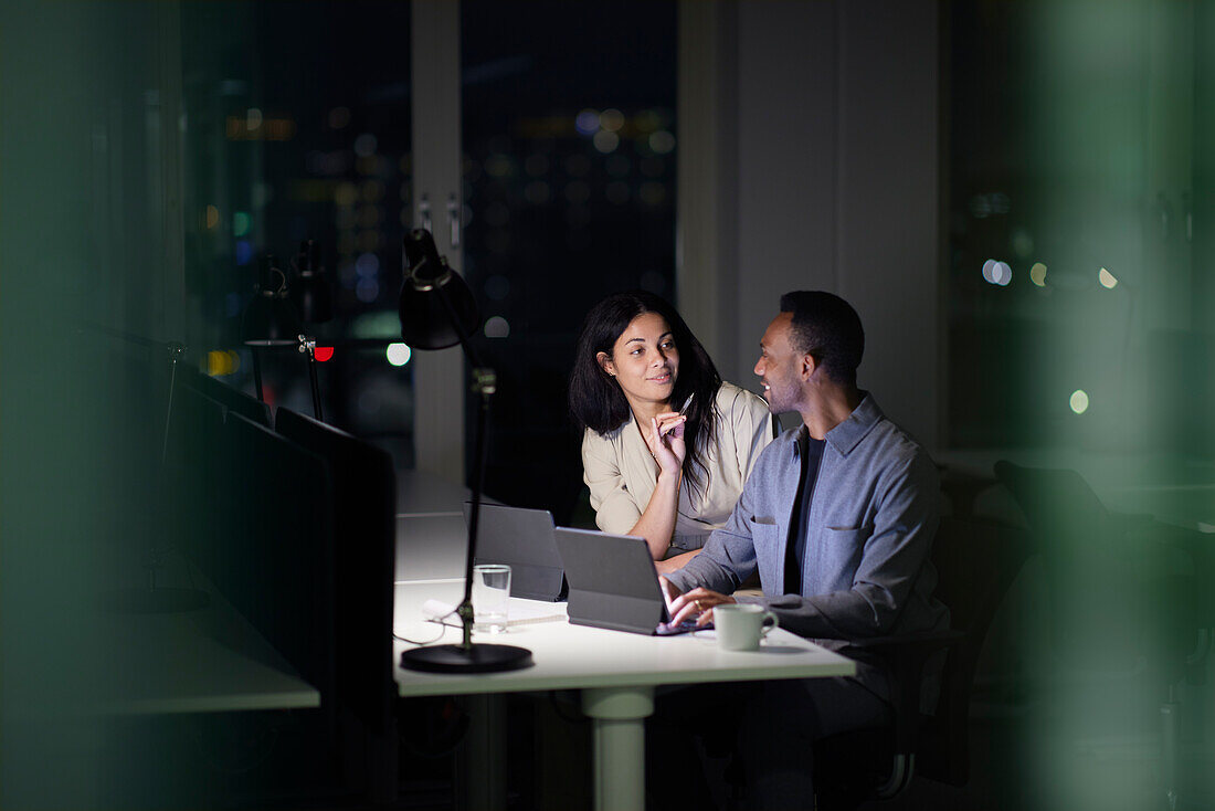
[(643, 312), (629, 321), (611, 356), (599, 353), (598, 357), (629, 402), (669, 402), (679, 376), (679, 350), (671, 325), (657, 312)]

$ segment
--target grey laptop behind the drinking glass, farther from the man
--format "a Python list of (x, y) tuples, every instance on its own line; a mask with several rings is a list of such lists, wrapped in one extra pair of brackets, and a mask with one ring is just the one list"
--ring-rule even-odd
[[(473, 503), (464, 502), (464, 523)], [(555, 602), (565, 598), (561, 556), (553, 542), (553, 513), (505, 505), (481, 503), (473, 563), (510, 567), (510, 596)]]

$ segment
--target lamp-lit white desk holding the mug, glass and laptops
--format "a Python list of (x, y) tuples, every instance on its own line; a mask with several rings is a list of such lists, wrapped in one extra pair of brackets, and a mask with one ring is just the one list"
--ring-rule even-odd
[[(425, 599), (457, 603), (459, 580), (399, 582), (395, 630), (411, 640), (433, 640), (441, 630), (422, 616)], [(530, 614), (560, 619), (512, 626), (507, 633), (475, 635), (477, 642), (516, 644), (532, 652), (525, 670), (488, 675), (422, 674), (396, 668), (401, 695), (456, 695), (581, 689), (583, 711), (594, 719), (595, 807), (645, 806), (645, 719), (654, 711), (659, 685), (690, 685), (768, 678), (852, 676), (855, 665), (786, 631), (774, 631), (756, 653), (720, 651), (712, 631), (673, 637), (570, 625), (565, 603), (512, 599)], [(448, 629), (443, 643), (459, 642)], [(394, 661), (412, 647), (397, 642)]]

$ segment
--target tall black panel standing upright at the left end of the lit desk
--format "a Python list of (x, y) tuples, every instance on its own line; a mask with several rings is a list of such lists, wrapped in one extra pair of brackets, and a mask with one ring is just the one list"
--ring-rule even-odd
[(383, 732), (396, 695), (392, 597), (396, 474), (392, 457), (350, 434), (279, 407), (279, 435), (326, 460), (338, 530), (333, 575), (338, 705)]

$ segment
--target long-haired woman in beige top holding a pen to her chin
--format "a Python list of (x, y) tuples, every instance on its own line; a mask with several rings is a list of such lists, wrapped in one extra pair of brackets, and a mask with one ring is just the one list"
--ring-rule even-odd
[(582, 325), (570, 411), (595, 523), (645, 539), (659, 571), (684, 565), (725, 523), (773, 421), (723, 383), (674, 308), (645, 292), (597, 304)]

